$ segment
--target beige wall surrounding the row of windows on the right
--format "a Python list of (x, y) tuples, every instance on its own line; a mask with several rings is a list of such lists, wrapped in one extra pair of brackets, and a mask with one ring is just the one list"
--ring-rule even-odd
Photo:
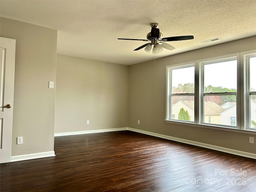
[[(256, 49), (256, 36), (129, 66), (129, 127), (256, 153), (250, 134), (166, 123), (166, 66)], [(140, 120), (140, 124), (138, 124)]]

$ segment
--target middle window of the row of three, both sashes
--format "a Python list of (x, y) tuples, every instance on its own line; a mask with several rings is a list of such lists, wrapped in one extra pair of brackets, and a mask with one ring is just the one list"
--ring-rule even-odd
[(222, 105), (236, 106), (237, 55), (201, 60), (198, 64), (202, 77), (200, 123), (230, 126), (230, 116), (236, 117), (236, 108)]

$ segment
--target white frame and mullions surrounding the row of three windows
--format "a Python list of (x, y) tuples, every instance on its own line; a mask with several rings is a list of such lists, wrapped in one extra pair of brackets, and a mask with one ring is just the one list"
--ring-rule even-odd
[[(182, 64), (176, 64), (176, 65), (170, 65), (166, 66), (166, 122), (167, 123), (174, 123), (174, 124), (181, 124), (181, 125), (187, 125), (190, 124), (190, 126), (194, 127), (202, 127), (202, 128), (211, 128), (211, 129), (217, 129), (217, 130), (227, 130), (232, 132), (241, 132), (241, 133), (248, 133), (255, 134), (256, 135), (256, 129), (250, 129), (248, 127), (248, 124), (250, 123), (249, 120), (247, 120), (248, 116), (250, 115), (250, 94), (247, 91), (247, 85), (249, 81), (248, 72), (249, 69), (246, 66), (246, 59), (248, 55), (254, 55), (256, 54), (256, 50), (247, 51), (247, 52), (241, 52), (237, 54), (231, 54), (221, 57), (215, 57), (215, 58), (208, 58), (204, 60), (198, 60), (198, 61), (192, 61), (192, 62), (186, 62)], [(200, 94), (200, 91), (202, 89), (202, 66), (200, 66), (200, 62), (202, 61), (209, 61), (209, 60), (218, 60), (228, 57), (234, 57), (237, 58), (237, 94), (236, 94), (236, 107), (237, 107), (237, 116), (236, 116), (236, 128), (234, 126), (222, 126), (220, 124), (218, 125), (212, 125), (212, 124), (202, 124), (202, 117), (200, 117), (199, 114), (202, 114), (202, 94)], [(195, 113), (194, 113), (194, 122), (182, 122), (180, 120), (171, 120), (170, 113), (170, 68), (182, 68), (186, 67), (188, 65), (195, 66), (195, 90), (194, 90), (194, 104), (195, 104)], [(256, 92), (252, 92), (252, 94), (256, 94)]]

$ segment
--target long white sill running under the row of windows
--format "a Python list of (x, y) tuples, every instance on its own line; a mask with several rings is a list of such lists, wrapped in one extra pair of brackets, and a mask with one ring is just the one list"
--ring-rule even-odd
[(180, 121), (174, 121), (174, 120), (165, 120), (166, 123), (173, 123), (173, 124), (180, 124), (180, 125), (186, 125), (186, 126), (194, 126), (194, 127), (202, 127), (202, 128), (209, 128), (209, 129), (216, 129), (216, 130), (223, 130), (223, 131), (231, 131), (231, 132), (238, 132), (238, 133), (246, 133), (246, 134), (252, 134), (256, 135), (256, 130), (244, 130), (244, 129), (236, 129), (236, 128), (230, 128), (230, 127), (221, 127), (221, 126), (210, 126), (205, 124), (194, 124), (190, 122), (180, 122)]

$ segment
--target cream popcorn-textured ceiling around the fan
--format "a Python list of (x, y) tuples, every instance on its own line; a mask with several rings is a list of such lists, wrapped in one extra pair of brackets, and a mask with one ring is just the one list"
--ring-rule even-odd
[(0, 16), (58, 30), (58, 54), (126, 65), (153, 55), (117, 38), (146, 39), (153, 22), (163, 37), (194, 36), (155, 59), (256, 35), (256, 0), (0, 0)]

